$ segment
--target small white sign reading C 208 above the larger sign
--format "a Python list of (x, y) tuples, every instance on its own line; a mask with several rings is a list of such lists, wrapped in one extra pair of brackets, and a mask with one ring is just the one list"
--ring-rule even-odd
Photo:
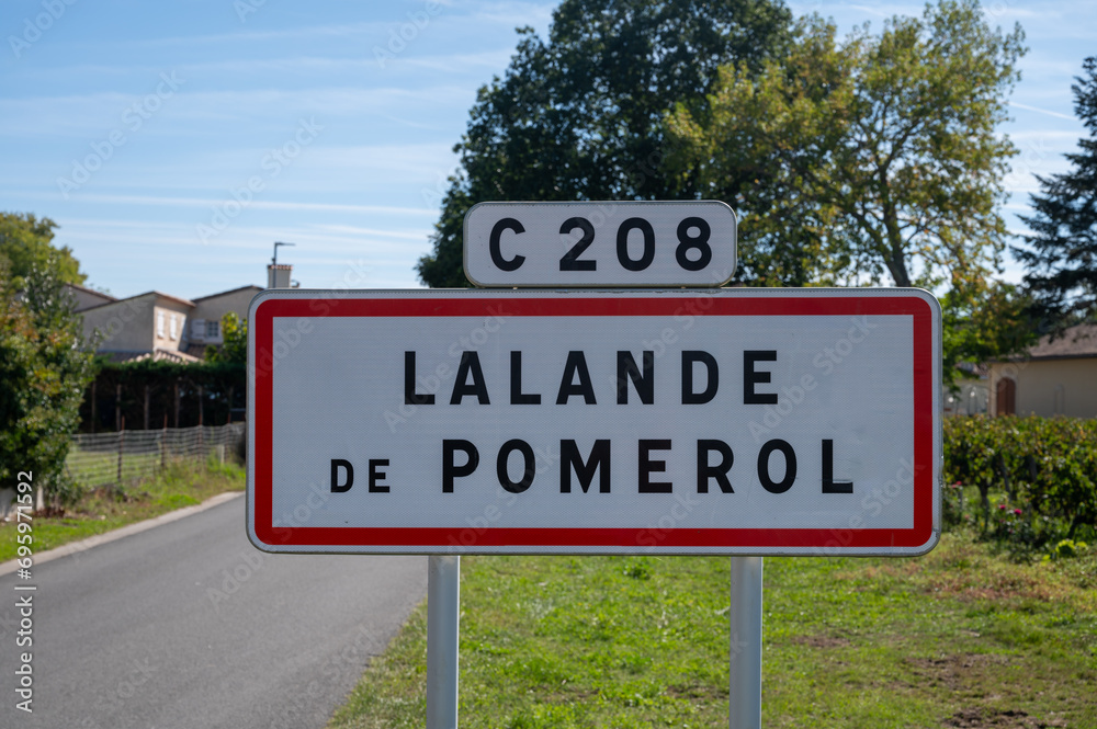
[(480, 286), (709, 286), (735, 272), (735, 213), (719, 201), (479, 203), (464, 223)]

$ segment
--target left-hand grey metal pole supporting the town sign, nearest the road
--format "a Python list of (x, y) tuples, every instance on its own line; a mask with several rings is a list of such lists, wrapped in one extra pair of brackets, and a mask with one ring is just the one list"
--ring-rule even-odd
[(427, 558), (427, 729), (457, 727), (461, 557)]

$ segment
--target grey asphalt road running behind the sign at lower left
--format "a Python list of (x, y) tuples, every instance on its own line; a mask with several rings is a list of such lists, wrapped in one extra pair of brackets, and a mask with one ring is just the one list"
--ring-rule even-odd
[(234, 499), (0, 577), (0, 727), (324, 727), (426, 591), (423, 557), (260, 553)]

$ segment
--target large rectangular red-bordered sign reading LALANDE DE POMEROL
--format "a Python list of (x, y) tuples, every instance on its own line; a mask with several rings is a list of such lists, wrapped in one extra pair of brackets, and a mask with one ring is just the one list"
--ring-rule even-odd
[(271, 289), (248, 532), (272, 551), (916, 555), (940, 308), (916, 289)]

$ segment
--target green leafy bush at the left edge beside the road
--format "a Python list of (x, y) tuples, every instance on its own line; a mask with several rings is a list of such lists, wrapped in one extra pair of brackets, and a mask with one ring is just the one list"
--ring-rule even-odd
[(80, 496), (64, 471), (65, 457), (94, 377), (58, 259), (32, 264), (20, 291), (0, 259), (0, 482), (31, 471), (54, 508)]

